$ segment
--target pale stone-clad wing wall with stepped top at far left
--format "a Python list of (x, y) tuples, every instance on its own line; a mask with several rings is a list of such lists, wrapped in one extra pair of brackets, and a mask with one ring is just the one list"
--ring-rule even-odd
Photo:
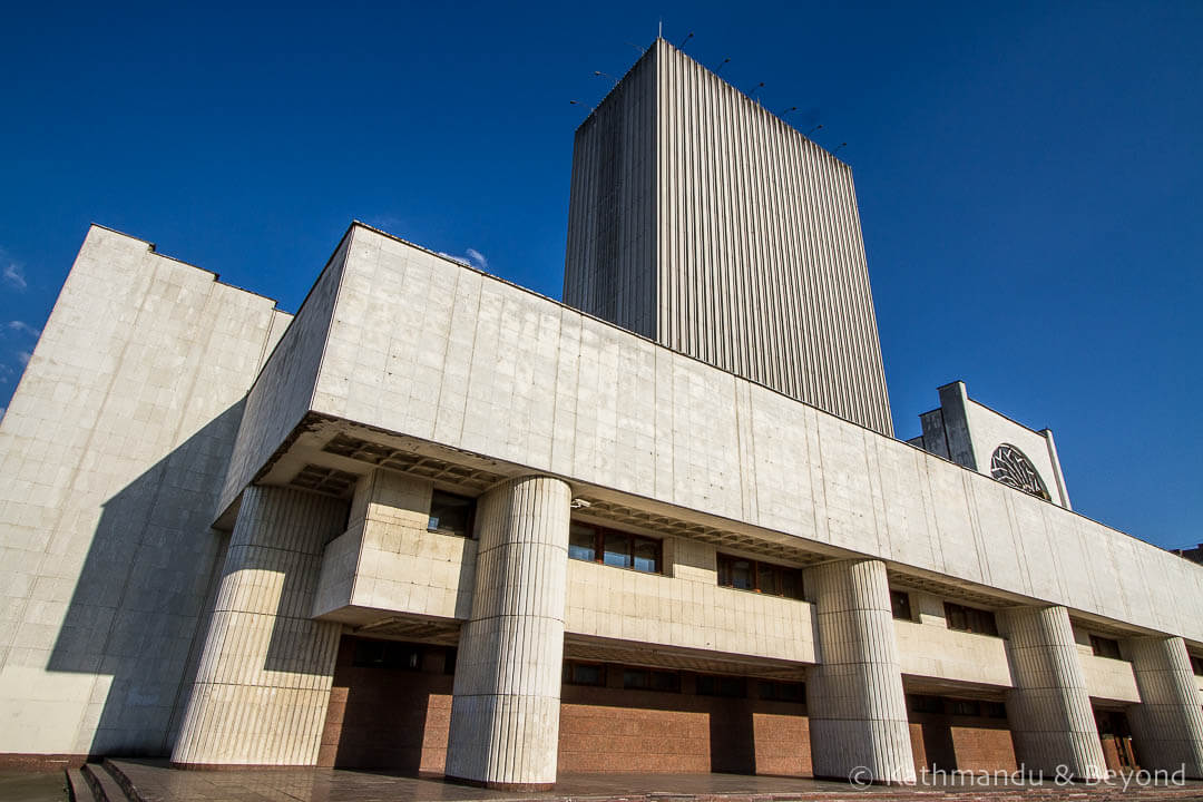
[(94, 226), (0, 423), (0, 753), (161, 754), (290, 317)]

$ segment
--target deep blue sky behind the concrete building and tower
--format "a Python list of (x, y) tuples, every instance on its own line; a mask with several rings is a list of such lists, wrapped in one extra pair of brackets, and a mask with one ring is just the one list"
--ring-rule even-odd
[(351, 219), (558, 298), (573, 130), (668, 38), (854, 170), (899, 436), (936, 387), (1203, 540), (1203, 2), (10, 4), (0, 406), (89, 222), (295, 310)]

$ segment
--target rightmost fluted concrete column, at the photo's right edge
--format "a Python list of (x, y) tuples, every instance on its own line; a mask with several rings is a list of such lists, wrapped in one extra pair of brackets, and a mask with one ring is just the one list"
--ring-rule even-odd
[(1132, 660), (1140, 703), (1128, 708), (1142, 768), (1203, 779), (1203, 707), (1180, 637), (1133, 637), (1124, 643)]

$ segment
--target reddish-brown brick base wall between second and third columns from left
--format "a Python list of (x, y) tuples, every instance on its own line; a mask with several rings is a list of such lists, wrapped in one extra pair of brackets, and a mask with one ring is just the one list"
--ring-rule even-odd
[(561, 772), (811, 776), (799, 705), (574, 685), (561, 694)]

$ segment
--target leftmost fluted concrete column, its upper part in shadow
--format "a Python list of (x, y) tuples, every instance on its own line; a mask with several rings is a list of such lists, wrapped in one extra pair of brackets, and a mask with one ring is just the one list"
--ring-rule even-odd
[(345, 521), (338, 499), (245, 489), (173, 764), (318, 762), (340, 625), (309, 614)]

